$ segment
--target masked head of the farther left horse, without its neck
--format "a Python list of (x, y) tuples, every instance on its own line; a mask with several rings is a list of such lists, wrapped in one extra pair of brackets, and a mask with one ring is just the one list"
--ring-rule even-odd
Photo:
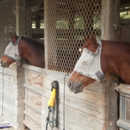
[[(16, 33), (10, 33), (11, 41), (8, 46), (5, 48), (4, 55), (1, 58), (2, 67), (9, 67), (13, 62), (20, 60), (20, 56), (18, 55), (18, 43), (20, 39), (16, 35)], [(14, 49), (17, 48), (17, 49)]]

